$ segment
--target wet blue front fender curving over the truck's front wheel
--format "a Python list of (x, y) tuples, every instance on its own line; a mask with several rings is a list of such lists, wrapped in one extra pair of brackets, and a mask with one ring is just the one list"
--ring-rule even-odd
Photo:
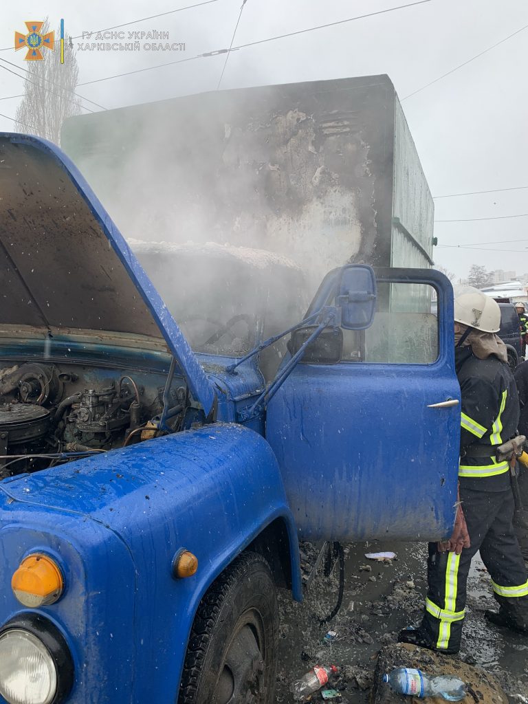
[[(115, 691), (108, 686), (113, 679), (110, 670), (132, 683), (133, 702), (161, 703), (169, 696), (175, 698), (199, 601), (234, 557), (277, 519), (287, 529), (292, 591), (294, 598), (301, 599), (296, 529), (277, 460), (265, 439), (239, 425), (219, 423), (146, 441), (16, 477), (3, 482), (0, 489), (6, 506), (0, 514), (2, 524), (18, 503), (18, 511), (9, 517), (11, 522), (18, 515), (24, 517), (18, 532), (31, 531), (34, 524), (46, 526), (34, 547), (46, 550), (43, 543), (47, 540), (52, 543), (48, 551), (60, 553), (61, 560), (68, 562), (64, 558), (68, 551), (54, 537), (54, 524), (60, 524), (63, 540), (68, 541), (69, 536), (71, 545), (78, 546), (87, 581), (94, 580), (96, 574), (119, 577), (126, 560), (133, 565), (133, 570), (130, 566), (124, 569), (120, 587), (116, 588), (114, 581), (102, 594), (97, 590), (87, 594), (93, 604), (89, 603), (84, 614), (84, 634), (76, 634), (76, 657), (80, 662), (97, 660), (101, 672), (99, 677), (89, 678), (76, 673), (72, 702), (115, 701)], [(94, 532), (94, 525), (99, 539), (83, 539), (84, 532)], [(27, 540), (25, 543), (26, 554), (31, 546)], [(124, 548), (126, 560), (123, 556), (118, 559)], [(172, 560), (180, 548), (187, 548), (199, 559), (194, 577), (172, 577)], [(4, 579), (11, 579), (18, 566), (6, 565), (12, 554), (4, 551)], [(16, 559), (22, 557), (20, 554)], [(61, 601), (43, 612), (60, 623), (68, 636), (74, 622), (79, 627), (80, 604), (75, 594), (80, 592), (75, 580), (82, 579), (82, 571), (70, 570), (66, 576), (73, 584), (67, 585)], [(1, 589), (11, 591), (8, 584), (2, 584)], [(132, 596), (135, 616), (131, 634)], [(92, 619), (100, 599), (108, 603), (108, 622), (98, 646), (96, 636), (89, 639), (88, 634), (95, 634), (101, 626)], [(10, 615), (11, 610), (2, 612), (1, 622)], [(130, 649), (115, 653), (109, 646), (127, 642), (131, 636), (135, 658)], [(88, 645), (83, 646), (84, 642)], [(88, 681), (89, 691), (84, 691)]]

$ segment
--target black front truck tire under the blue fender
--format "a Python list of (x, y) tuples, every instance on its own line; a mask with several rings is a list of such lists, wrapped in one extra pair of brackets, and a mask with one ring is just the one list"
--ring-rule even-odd
[(178, 704), (273, 704), (279, 612), (268, 562), (242, 553), (194, 617)]

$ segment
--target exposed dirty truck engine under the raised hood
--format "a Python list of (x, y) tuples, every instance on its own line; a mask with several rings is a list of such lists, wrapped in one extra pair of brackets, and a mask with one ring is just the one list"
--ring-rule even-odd
[[(122, 371), (122, 370), (121, 370)], [(144, 377), (144, 375), (142, 375)], [(145, 388), (131, 375), (82, 365), (25, 362), (0, 370), (0, 479), (150, 439), (158, 434), (164, 379)], [(183, 387), (168, 394), (184, 410)], [(182, 420), (172, 413), (172, 429)]]

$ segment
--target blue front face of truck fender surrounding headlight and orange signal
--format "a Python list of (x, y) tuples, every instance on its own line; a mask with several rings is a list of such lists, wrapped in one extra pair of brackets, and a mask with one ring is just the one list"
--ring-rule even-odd
[[(20, 505), (7, 496), (7, 486), (2, 489), (0, 624), (22, 612), (38, 612), (62, 631), (75, 667), (68, 703), (89, 704), (94, 697), (105, 703), (134, 701), (130, 674), (137, 661), (137, 573), (127, 546), (108, 526), (87, 516), (44, 512), (30, 498)], [(20, 560), (35, 552), (54, 558), (65, 593), (51, 606), (27, 609), (11, 591), (11, 576)]]

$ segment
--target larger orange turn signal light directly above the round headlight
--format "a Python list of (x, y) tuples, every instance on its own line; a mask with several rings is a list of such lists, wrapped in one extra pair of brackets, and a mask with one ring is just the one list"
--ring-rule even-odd
[(54, 604), (64, 590), (63, 575), (52, 558), (34, 553), (20, 562), (11, 579), (11, 589), (24, 606), (36, 608)]

